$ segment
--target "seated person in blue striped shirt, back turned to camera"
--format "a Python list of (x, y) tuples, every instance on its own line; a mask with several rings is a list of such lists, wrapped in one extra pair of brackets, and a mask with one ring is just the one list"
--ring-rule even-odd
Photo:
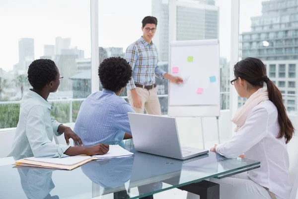
[(98, 75), (103, 91), (82, 102), (74, 126), (84, 146), (132, 138), (127, 113), (135, 111), (120, 97), (132, 77), (131, 66), (125, 59), (111, 57), (100, 64)]

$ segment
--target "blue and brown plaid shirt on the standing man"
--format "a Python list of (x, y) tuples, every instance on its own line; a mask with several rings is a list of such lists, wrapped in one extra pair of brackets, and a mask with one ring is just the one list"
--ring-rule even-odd
[(156, 46), (149, 44), (143, 37), (129, 45), (126, 49), (125, 59), (133, 70), (133, 77), (127, 84), (127, 89), (135, 89), (135, 84), (151, 86), (155, 84), (155, 75), (163, 79), (165, 72), (158, 66), (158, 53)]

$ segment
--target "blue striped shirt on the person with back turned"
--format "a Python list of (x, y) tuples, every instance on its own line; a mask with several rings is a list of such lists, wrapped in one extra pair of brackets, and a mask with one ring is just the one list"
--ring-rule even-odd
[(84, 146), (122, 141), (125, 132), (132, 134), (128, 112), (135, 111), (122, 97), (109, 90), (96, 92), (82, 102), (74, 132)]

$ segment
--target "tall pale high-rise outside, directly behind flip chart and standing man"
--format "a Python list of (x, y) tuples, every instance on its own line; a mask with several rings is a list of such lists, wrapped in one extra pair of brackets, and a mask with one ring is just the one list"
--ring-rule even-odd
[[(215, 0), (176, 1), (176, 39), (218, 39), (219, 7)], [(168, 0), (152, 0), (152, 15), (158, 20), (153, 43), (158, 49), (158, 60), (168, 61)]]

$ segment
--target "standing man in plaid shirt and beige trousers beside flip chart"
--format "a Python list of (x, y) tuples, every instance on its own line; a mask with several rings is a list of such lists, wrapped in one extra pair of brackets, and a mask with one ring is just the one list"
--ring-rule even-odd
[(182, 83), (183, 80), (158, 67), (157, 49), (152, 43), (156, 26), (156, 17), (146, 16), (142, 20), (143, 36), (126, 49), (125, 58), (133, 70), (132, 79), (127, 85), (127, 94), (128, 100), (136, 112), (144, 113), (145, 108), (149, 114), (161, 115), (155, 75), (176, 84)]

